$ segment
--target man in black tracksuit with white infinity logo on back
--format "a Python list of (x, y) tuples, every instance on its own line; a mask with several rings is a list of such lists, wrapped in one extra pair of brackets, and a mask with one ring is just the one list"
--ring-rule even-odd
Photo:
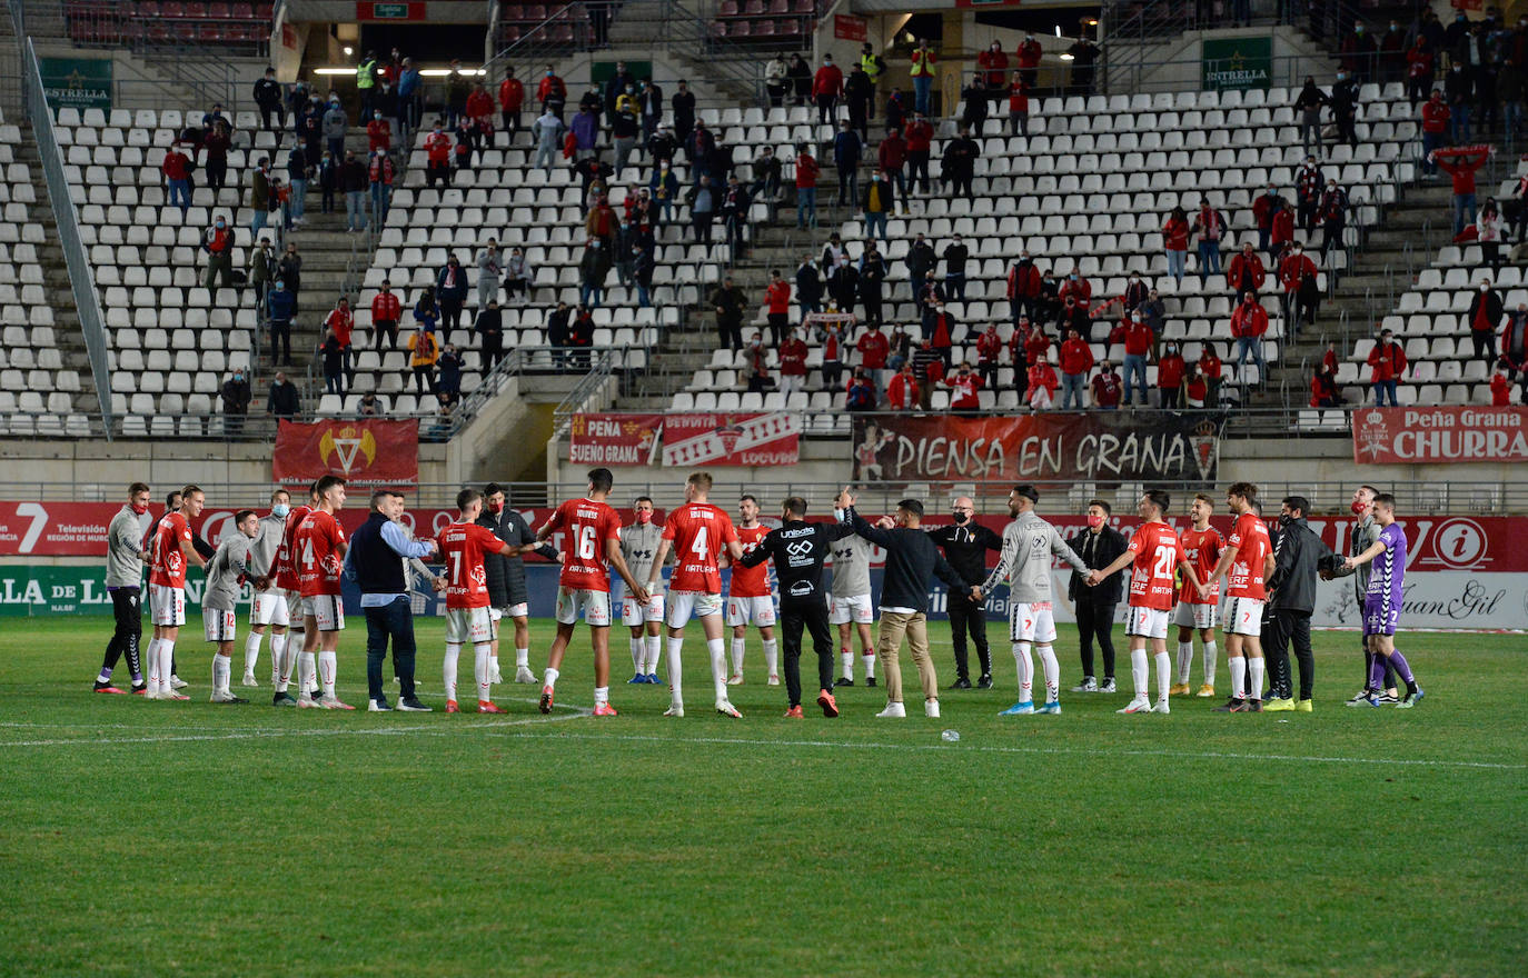
[[(845, 523), (807, 523), (807, 500), (790, 497), (781, 512), (781, 527), (770, 530), (759, 546), (743, 555), (740, 564), (758, 567), (775, 559), (779, 581), (779, 625), (785, 637), (785, 694), (792, 712), (801, 711), (801, 630), (811, 633), (817, 653), (817, 704), (824, 717), (837, 717), (833, 700), (833, 634), (828, 631), (828, 602), (822, 590), (822, 562), (828, 546), (854, 535)], [(790, 714), (787, 714), (790, 715)]]

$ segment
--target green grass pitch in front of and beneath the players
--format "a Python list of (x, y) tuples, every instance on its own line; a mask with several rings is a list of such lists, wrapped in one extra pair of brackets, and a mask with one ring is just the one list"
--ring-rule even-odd
[[(1522, 636), (1407, 636), (1410, 712), (1345, 709), (1357, 639), (1325, 633), (1309, 715), (1117, 717), (1122, 692), (999, 718), (1004, 653), (943, 720), (876, 720), (856, 688), (839, 720), (787, 721), (755, 634), (735, 721), (704, 709), (692, 634), (675, 721), (665, 688), (619, 685), (620, 631), (622, 715), (596, 721), (570, 709), (587, 633), (542, 718), (530, 686), (500, 688), (507, 717), (211, 706), (199, 640), (191, 701), (93, 695), (108, 631), (0, 631), (0, 973), (1523, 973)], [(435, 706), (440, 634), (420, 627)], [(1059, 653), (1073, 685), (1071, 627)]]

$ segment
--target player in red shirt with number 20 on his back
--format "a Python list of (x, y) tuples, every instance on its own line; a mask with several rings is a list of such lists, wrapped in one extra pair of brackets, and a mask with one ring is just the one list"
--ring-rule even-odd
[[(1135, 512), (1141, 524), (1135, 527), (1129, 547), (1117, 561), (1088, 575), (1093, 587), (1112, 573), (1131, 568), (1131, 616), (1125, 634), (1131, 639), (1131, 674), (1135, 680), (1135, 697), (1118, 711), (1122, 714), (1167, 714), (1167, 691), (1172, 683), (1172, 660), (1167, 657), (1167, 613), (1172, 610), (1174, 568), (1183, 568), (1183, 576), (1201, 596), (1209, 591), (1199, 584), (1183, 541), (1163, 520), (1172, 498), (1161, 489), (1148, 489)], [(1146, 642), (1151, 640), (1152, 659), (1157, 662), (1157, 704), (1146, 698), (1151, 672), (1146, 665)]]

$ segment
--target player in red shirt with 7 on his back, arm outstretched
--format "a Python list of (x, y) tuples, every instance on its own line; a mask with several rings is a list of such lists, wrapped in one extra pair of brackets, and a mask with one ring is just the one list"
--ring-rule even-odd
[[(487, 570), (484, 553), (520, 556), (536, 547), (515, 546), (494, 535), (486, 526), (478, 526), (483, 515), (483, 494), (463, 489), (457, 494), (457, 521), (446, 524), (435, 536), (440, 559), (446, 565), (446, 712), (460, 712), (457, 706), (457, 659), (461, 646), (472, 643), (472, 677), (478, 686), (478, 712), (503, 714), (494, 706), (494, 617), (487, 599)], [(608, 704), (607, 704), (608, 706)]]

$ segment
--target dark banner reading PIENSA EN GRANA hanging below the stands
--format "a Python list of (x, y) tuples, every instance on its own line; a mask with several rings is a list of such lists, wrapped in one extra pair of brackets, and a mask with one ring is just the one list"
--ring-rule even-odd
[(856, 481), (1213, 481), (1224, 417), (1047, 413), (854, 419)]

